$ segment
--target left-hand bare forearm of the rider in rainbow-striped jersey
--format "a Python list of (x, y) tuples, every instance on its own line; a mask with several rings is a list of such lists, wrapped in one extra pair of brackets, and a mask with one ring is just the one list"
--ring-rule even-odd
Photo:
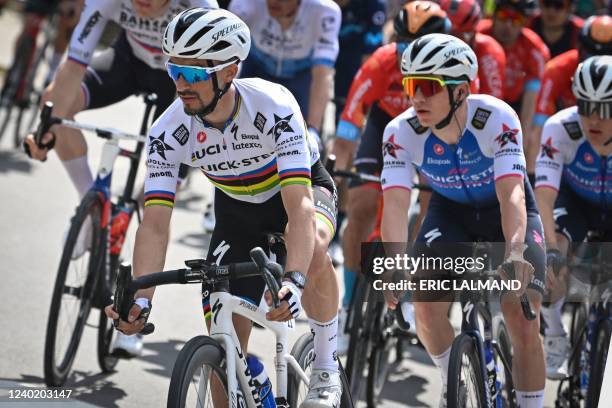
[[(169, 229), (143, 221), (136, 233), (134, 245), (134, 278), (159, 272), (164, 269)], [(138, 291), (136, 297), (153, 298), (155, 288)]]

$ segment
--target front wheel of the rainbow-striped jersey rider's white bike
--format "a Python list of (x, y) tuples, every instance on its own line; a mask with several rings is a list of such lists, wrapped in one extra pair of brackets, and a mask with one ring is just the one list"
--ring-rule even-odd
[[(168, 408), (223, 407), (227, 398), (225, 351), (208, 336), (194, 337), (174, 363)], [(246, 406), (246, 401), (237, 401), (236, 405)]]

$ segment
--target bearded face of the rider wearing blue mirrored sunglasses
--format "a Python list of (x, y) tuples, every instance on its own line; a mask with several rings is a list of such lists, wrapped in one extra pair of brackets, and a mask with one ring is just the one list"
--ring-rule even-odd
[[(170, 62), (177, 65), (191, 65), (199, 67), (208, 67), (207, 61), (194, 58), (170, 58)], [(229, 65), (221, 71), (217, 71), (217, 80), (219, 88), (223, 88), (225, 84), (230, 82), (238, 73), (236, 64)], [(208, 106), (214, 97), (212, 78), (206, 81), (199, 81), (193, 84), (185, 81), (183, 77), (179, 77), (174, 81), (176, 92), (183, 102), (183, 109), (188, 115), (197, 115)]]

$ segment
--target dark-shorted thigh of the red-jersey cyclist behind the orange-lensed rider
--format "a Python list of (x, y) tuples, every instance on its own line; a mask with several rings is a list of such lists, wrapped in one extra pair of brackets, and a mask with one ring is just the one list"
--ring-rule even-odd
[[(374, 104), (368, 114), (366, 127), (359, 139), (359, 147), (355, 153), (353, 166), (359, 173), (379, 175), (382, 171), (382, 135), (385, 126), (391, 117)], [(380, 190), (378, 183), (364, 183), (359, 180), (351, 179), (349, 188), (355, 188), (364, 184), (372, 184), (372, 187)]]

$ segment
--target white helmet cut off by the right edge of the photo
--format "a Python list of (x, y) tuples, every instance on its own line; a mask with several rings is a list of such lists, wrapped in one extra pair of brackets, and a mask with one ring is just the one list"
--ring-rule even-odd
[(578, 65), (572, 91), (576, 99), (612, 102), (612, 55), (591, 57)]

